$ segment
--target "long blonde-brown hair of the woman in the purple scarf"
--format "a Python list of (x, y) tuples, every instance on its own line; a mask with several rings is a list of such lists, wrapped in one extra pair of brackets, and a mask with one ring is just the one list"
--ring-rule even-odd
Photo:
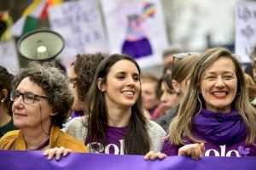
[(198, 59), (194, 71), (191, 73), (189, 91), (185, 94), (183, 103), (180, 105), (177, 116), (174, 118), (169, 129), (171, 132), (170, 142), (173, 144), (185, 144), (183, 140), (184, 135), (195, 143), (202, 142), (201, 140), (196, 139), (191, 133), (191, 129), (193, 128), (192, 118), (201, 110), (201, 101), (203, 101), (200, 97), (200, 83), (207, 69), (213, 65), (217, 59), (222, 57), (231, 59), (236, 67), (237, 93), (236, 98), (231, 105), (234, 109), (239, 111), (243, 122), (246, 124), (247, 144), (253, 144), (256, 134), (256, 111), (249, 103), (241, 66), (236, 57), (234, 57), (226, 48), (210, 48), (201, 54), (201, 57)]

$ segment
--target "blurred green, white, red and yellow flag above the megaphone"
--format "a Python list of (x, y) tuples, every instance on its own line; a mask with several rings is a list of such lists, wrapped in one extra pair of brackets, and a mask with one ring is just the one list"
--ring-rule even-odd
[(20, 19), (15, 22), (11, 29), (12, 35), (20, 37), (29, 31), (37, 29), (38, 22), (47, 17), (47, 8), (61, 2), (62, 0), (33, 0)]

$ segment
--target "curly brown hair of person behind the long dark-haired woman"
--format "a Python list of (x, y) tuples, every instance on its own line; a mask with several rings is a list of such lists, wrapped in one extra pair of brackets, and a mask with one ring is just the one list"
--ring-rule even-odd
[(77, 87), (79, 99), (84, 101), (97, 66), (105, 59), (107, 54), (77, 54), (76, 60), (71, 64), (77, 77), (71, 79)]

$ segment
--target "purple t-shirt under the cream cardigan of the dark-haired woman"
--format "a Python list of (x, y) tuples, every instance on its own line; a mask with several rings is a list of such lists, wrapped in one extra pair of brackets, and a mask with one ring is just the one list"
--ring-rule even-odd
[(114, 155), (124, 155), (124, 137), (127, 127), (107, 127), (106, 137), (107, 145), (98, 142), (89, 143), (88, 137), (85, 140), (85, 145), (90, 150), (90, 153), (105, 153)]

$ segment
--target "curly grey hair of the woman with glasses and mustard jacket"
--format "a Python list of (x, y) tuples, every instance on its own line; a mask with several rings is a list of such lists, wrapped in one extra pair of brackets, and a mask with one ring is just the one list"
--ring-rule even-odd
[(68, 88), (68, 78), (65, 73), (53, 63), (40, 64), (33, 61), (28, 68), (20, 69), (15, 75), (13, 81), (15, 88), (26, 77), (29, 77), (32, 82), (36, 82), (44, 90), (49, 105), (57, 112), (55, 116), (51, 116), (51, 121), (56, 126), (62, 127), (73, 105), (73, 94)]

